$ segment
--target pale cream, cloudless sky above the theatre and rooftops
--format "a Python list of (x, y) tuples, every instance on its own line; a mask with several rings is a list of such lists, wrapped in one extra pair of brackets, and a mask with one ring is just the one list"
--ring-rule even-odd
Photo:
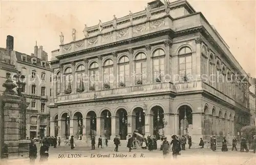
[[(187, 0), (202, 12), (228, 44), (231, 53), (252, 77), (256, 77), (255, 1), (254, 0)], [(140, 1), (0, 1), (0, 47), (6, 48), (6, 36), (14, 36), (14, 50), (26, 54), (34, 52), (35, 41), (51, 56), (59, 48), (59, 34), (65, 43), (72, 41), (72, 29), (77, 39), (82, 30), (110, 21), (113, 15), (122, 17), (144, 10), (151, 0)], [(170, 0), (170, 2), (173, 2)]]

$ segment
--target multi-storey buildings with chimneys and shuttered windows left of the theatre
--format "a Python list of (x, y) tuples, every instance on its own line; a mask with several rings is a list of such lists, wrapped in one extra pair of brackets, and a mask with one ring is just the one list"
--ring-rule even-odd
[[(7, 58), (7, 66), (13, 67), (13, 69), (7, 69), (8, 71), (5, 72), (9, 72), (13, 76), (18, 71), (26, 77), (23, 95), (26, 97), (26, 101), (30, 103), (27, 108), (26, 136), (33, 138), (49, 135), (50, 112), (47, 106), (49, 103), (48, 96), (50, 96), (51, 90), (51, 69), (48, 62), (48, 55), (42, 50), (42, 46), (38, 48), (37, 45), (34, 46), (34, 53), (31, 56), (13, 51), (12, 36), (7, 36), (7, 47), (8, 45), (12, 49), (11, 58)], [(14, 68), (17, 70), (16, 73), (14, 72)], [(3, 72), (3, 67), (1, 72)], [(13, 80), (15, 81), (15, 79)], [(2, 89), (2, 85), (0, 86)], [(1, 91), (3, 92), (3, 90)]]

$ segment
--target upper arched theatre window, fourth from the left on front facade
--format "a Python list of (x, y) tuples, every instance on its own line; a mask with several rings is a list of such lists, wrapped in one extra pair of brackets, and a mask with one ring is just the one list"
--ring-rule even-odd
[(90, 90), (97, 90), (99, 86), (99, 65), (97, 62), (93, 62), (89, 67), (89, 76), (90, 76)]

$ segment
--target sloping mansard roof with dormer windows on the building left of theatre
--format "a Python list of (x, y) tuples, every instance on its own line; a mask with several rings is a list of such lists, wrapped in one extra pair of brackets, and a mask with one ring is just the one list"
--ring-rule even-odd
[[(24, 62), (24, 63), (28, 63), (28, 64), (30, 64), (30, 65), (34, 65), (34, 66), (37, 66), (37, 67), (40, 67), (40, 68), (51, 69), (49, 62), (46, 61), (46, 60), (42, 60), (42, 59), (39, 59), (39, 58), (37, 58), (37, 57), (32, 57), (32, 56), (30, 56), (30, 55), (27, 55), (27, 54), (24, 54), (24, 53), (20, 53), (20, 52), (16, 52), (16, 51), (15, 51), (15, 54), (16, 54), (16, 59), (17, 59), (17, 61)], [(21, 55), (27, 56), (27, 61), (23, 61)], [(36, 64), (33, 64), (33, 63), (32, 63), (32, 61), (31, 61), (32, 58), (36, 58)], [(46, 61), (46, 67), (42, 67), (42, 66), (41, 66), (41, 61)]]

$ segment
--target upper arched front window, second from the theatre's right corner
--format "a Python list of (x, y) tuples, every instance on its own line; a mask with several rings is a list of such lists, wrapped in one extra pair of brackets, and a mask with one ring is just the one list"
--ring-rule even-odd
[(157, 49), (153, 53), (153, 78), (154, 81), (161, 82), (162, 75), (164, 75), (164, 56), (165, 53), (162, 49)]

